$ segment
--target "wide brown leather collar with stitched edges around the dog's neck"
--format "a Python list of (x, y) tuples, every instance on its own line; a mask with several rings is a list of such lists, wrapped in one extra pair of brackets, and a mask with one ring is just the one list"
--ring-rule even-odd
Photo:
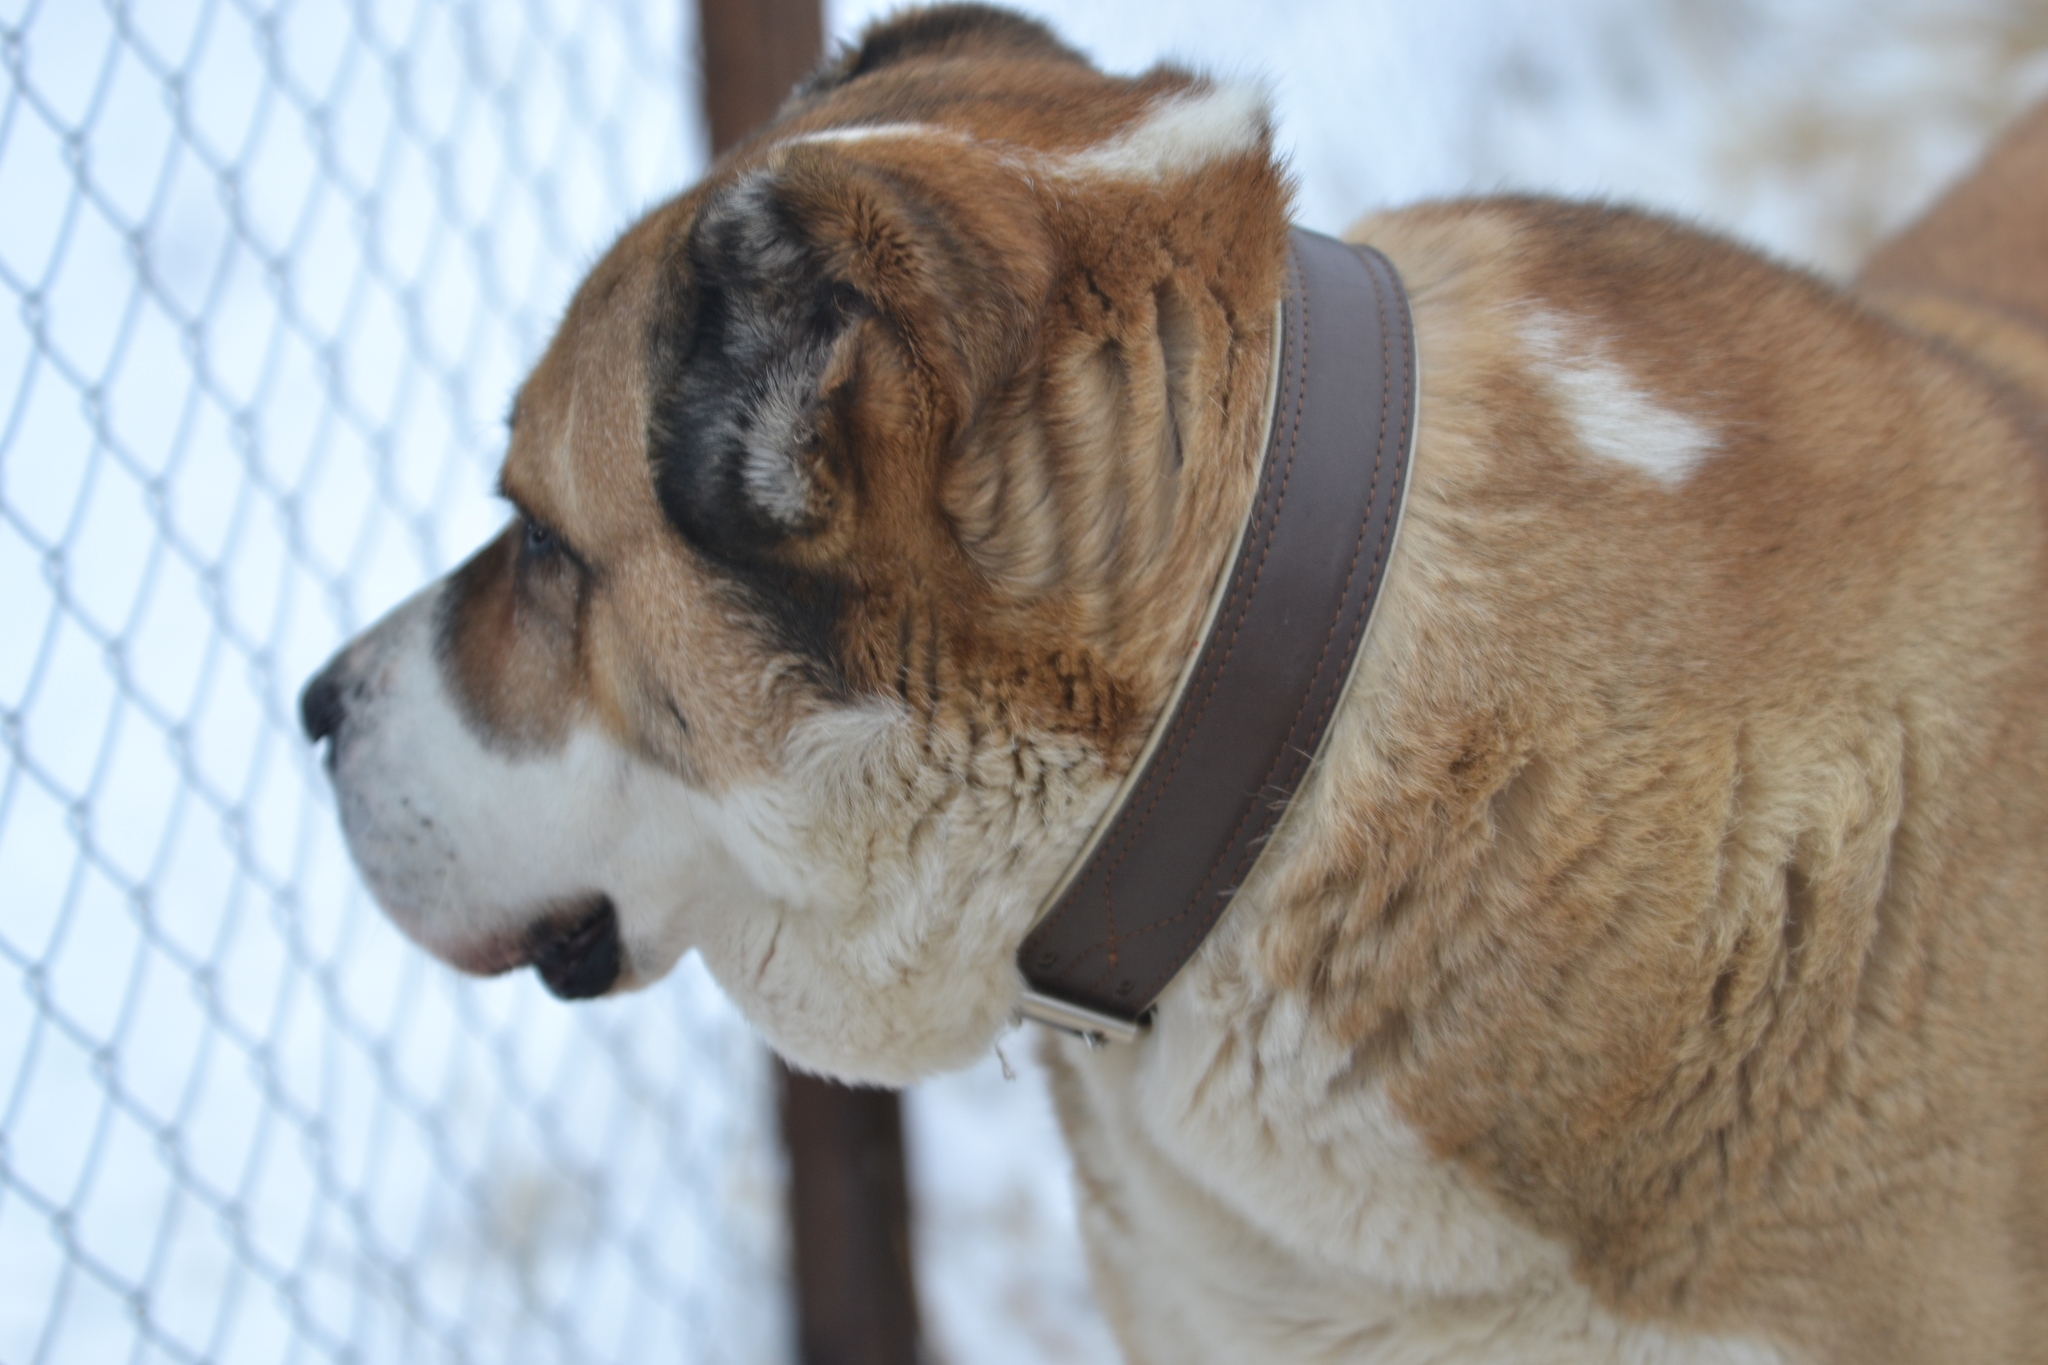
[(1208, 634), (1137, 776), (1018, 950), (1024, 1015), (1137, 1038), (1300, 788), (1372, 620), (1415, 448), (1393, 264), (1294, 229), (1272, 438)]

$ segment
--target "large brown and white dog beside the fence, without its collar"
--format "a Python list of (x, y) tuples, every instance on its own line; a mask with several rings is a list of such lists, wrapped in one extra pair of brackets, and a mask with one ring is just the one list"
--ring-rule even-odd
[[(1421, 370), (1370, 636), (1143, 1038), (1047, 1042), (1130, 1361), (2040, 1357), (2044, 149), (1855, 289), (1354, 229)], [(1253, 90), (870, 29), (594, 266), (512, 522), (309, 684), (379, 902), (571, 999), (696, 950), (805, 1068), (985, 1054), (1202, 639), (1286, 233)]]

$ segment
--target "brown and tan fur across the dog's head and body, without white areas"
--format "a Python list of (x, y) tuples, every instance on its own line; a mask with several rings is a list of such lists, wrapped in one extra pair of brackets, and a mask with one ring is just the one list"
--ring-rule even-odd
[[(881, 696), (924, 718), (934, 790), (1042, 808), (1032, 763), (1075, 765), (1044, 737), (1130, 763), (1249, 497), (1286, 192), (1266, 147), (1042, 174), (1194, 78), (915, 37), (821, 74), (578, 293), (504, 473), (567, 557), (514, 528), (457, 577), (479, 726), (547, 745), (594, 712), (721, 790)], [(874, 123), (975, 143), (791, 145)], [(1868, 272), (1944, 342), (1626, 211), (1356, 231), (1413, 291), (1409, 522), (1260, 952), (1212, 988), (1305, 1003), (1620, 1318), (1829, 1361), (2048, 1332), (2048, 508), (2015, 397), (2048, 372), (2044, 127)], [(750, 178), (858, 307), (793, 428), (801, 524), (707, 548), (649, 469), (645, 338), (696, 307), (690, 227)], [(1538, 309), (1716, 450), (1677, 487), (1581, 450)], [(1114, 1216), (1098, 1119), (1063, 1107)]]

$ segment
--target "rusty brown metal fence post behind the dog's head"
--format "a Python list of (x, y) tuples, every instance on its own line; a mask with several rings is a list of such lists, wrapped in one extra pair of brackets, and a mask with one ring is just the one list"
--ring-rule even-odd
[[(717, 156), (774, 115), (823, 51), (819, 0), (698, 0), (705, 115)], [(803, 1365), (915, 1365), (903, 1111), (776, 1062), (788, 1152)]]

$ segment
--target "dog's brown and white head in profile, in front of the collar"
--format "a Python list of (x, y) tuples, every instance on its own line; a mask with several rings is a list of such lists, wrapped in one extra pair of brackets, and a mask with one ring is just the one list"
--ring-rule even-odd
[(1200, 628), (1284, 231), (1253, 92), (870, 31), (598, 262), (512, 522), (307, 686), (379, 902), (565, 997), (696, 948), (823, 1070), (985, 1050)]

